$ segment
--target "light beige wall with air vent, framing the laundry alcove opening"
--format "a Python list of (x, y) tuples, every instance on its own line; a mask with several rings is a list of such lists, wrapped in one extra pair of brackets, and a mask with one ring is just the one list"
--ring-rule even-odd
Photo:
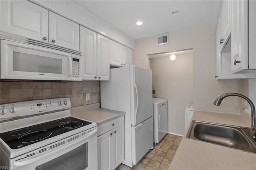
[[(194, 109), (220, 113), (239, 114), (242, 100), (226, 98), (221, 106), (213, 105), (219, 94), (243, 93), (242, 80), (215, 79), (215, 35), (210, 23), (169, 33), (169, 43), (156, 45), (156, 36), (135, 41), (133, 64), (148, 68), (147, 54), (193, 49), (193, 91)], [(248, 86), (247, 86), (248, 87)]]

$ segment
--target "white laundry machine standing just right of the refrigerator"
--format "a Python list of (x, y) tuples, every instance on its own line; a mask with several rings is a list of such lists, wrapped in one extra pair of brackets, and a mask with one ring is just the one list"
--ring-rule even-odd
[(167, 100), (153, 98), (154, 143), (159, 143), (168, 131)]

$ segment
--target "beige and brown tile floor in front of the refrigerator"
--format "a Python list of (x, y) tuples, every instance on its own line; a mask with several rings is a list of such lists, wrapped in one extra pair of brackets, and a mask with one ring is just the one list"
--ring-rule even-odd
[(180, 136), (166, 134), (134, 167), (121, 164), (116, 170), (168, 170), (181, 139)]

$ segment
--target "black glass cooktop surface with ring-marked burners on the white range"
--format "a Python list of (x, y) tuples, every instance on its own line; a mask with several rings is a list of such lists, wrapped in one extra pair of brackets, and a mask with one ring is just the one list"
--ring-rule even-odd
[(19, 149), (89, 124), (91, 124), (91, 122), (74, 117), (65, 117), (1, 133), (0, 137), (11, 149)]

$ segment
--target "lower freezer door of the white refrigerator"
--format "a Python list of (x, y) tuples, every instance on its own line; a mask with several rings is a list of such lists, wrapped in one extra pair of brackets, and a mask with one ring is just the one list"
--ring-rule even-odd
[(132, 164), (140, 159), (153, 147), (153, 118), (132, 126)]

